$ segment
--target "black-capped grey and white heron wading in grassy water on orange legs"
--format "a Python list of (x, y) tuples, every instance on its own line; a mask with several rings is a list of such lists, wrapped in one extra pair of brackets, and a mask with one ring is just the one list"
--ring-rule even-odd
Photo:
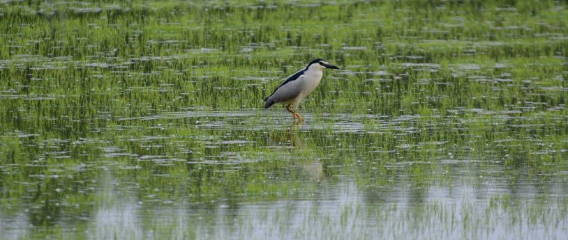
[[(287, 104), (286, 110), (292, 113), (294, 122), (296, 122), (296, 117), (298, 117), (299, 122), (304, 122), (304, 118), (296, 113), (298, 105), (301, 99), (304, 99), (317, 87), (317, 84), (320, 84), (323, 70), (327, 68), (339, 69), (339, 67), (327, 63), (322, 58), (311, 61), (306, 68), (287, 77), (271, 95), (262, 100), (265, 102), (264, 109), (269, 109), (274, 104)], [(294, 104), (294, 111), (290, 110), (292, 104)]]

